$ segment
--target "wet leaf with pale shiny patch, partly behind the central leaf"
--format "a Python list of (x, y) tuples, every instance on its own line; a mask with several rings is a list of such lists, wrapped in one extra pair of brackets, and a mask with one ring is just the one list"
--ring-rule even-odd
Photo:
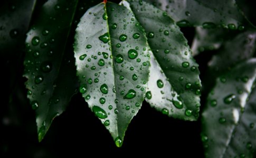
[(201, 81), (186, 38), (165, 12), (142, 1), (123, 1), (145, 28), (151, 55), (146, 101), (163, 114), (197, 120)]

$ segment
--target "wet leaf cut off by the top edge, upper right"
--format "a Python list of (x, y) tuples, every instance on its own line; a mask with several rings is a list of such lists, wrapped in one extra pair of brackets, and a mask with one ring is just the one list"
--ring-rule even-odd
[(180, 27), (203, 26), (215, 28), (217, 25), (243, 30), (250, 27), (234, 0), (145, 0), (166, 11)]

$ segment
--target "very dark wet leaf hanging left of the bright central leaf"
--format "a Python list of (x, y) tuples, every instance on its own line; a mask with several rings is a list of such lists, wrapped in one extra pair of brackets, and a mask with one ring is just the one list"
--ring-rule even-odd
[(77, 2), (46, 2), (27, 33), (24, 76), (28, 78), (27, 97), (36, 112), (39, 141), (78, 87), (72, 47), (65, 47)]

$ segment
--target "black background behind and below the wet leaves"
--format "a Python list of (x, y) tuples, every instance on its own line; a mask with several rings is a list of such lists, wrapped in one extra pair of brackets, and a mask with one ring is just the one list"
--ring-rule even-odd
[[(31, 23), (44, 2), (42, 0), (37, 2)], [(12, 1), (4, 1), (4, 3), (12, 3)], [(86, 12), (86, 9), (82, 12)], [(248, 11), (248, 14), (250, 13)], [(195, 34), (194, 28), (183, 28), (182, 32), (191, 45)], [(25, 40), (25, 34), (22, 40)], [(39, 143), (35, 114), (26, 98), (24, 86), (26, 79), (22, 77), (24, 47), (19, 45), (12, 49), (20, 52), (20, 57), (14, 61), (10, 57), (3, 57), (4, 62), (0, 64), (1, 80), (3, 80), (0, 104), (1, 158), (89, 157), (89, 155), (122, 157), (136, 156), (135, 153), (144, 156), (157, 154), (168, 157), (204, 157), (200, 137), (200, 118), (194, 122), (177, 120), (157, 112), (144, 102), (128, 127), (124, 144), (118, 148), (105, 126), (91, 112), (81, 94), (72, 97), (67, 110), (54, 119), (44, 140)], [(1, 51), (3, 50), (0, 48), (0, 53), (3, 53)], [(214, 52), (206, 52), (196, 56), (203, 82), (205, 82), (207, 62), (213, 54)], [(17, 64), (14, 70), (10, 66), (12, 62)], [(12, 81), (12, 78), (15, 80)], [(12, 97), (9, 97), (10, 94)], [(202, 93), (202, 107), (206, 94), (206, 92)]]

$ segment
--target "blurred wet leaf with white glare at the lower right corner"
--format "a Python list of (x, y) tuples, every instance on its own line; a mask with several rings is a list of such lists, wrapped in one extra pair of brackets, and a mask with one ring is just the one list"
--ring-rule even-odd
[(255, 58), (217, 78), (202, 114), (202, 141), (207, 157), (244, 157), (243, 154), (253, 157), (256, 145), (253, 129), (256, 122), (255, 78)]

